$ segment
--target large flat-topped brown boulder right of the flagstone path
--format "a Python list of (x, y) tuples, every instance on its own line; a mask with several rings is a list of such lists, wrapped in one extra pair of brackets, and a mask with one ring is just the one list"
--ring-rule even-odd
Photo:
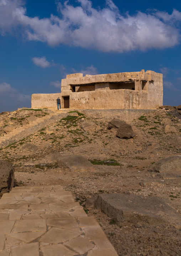
[(118, 226), (170, 223), (181, 227), (181, 215), (163, 199), (134, 194), (99, 194), (95, 208), (107, 214)]

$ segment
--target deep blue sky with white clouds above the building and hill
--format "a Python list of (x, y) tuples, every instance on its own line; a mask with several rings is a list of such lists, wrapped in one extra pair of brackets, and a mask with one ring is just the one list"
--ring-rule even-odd
[(181, 1), (0, 0), (0, 112), (56, 93), (66, 74), (153, 70), (181, 104)]

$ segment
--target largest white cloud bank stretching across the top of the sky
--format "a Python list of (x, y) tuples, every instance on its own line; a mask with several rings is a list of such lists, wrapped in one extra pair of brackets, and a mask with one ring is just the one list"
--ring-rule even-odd
[(0, 0), (0, 33), (18, 33), (27, 40), (123, 52), (173, 47), (180, 42), (177, 27), (181, 12), (137, 12), (122, 15), (112, 0), (95, 9), (90, 0), (77, 0), (79, 6), (57, 3), (58, 15), (39, 19), (26, 14), (24, 1)]

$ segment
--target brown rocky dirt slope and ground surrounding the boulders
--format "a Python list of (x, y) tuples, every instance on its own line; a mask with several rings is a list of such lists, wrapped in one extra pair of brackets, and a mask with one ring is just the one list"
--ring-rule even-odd
[[(18, 114), (16, 111), (14, 118)], [(29, 116), (36, 114), (28, 111)], [(26, 111), (21, 111), (19, 118), (26, 116)], [(165, 117), (171, 119), (176, 133), (164, 132), (161, 120)], [(130, 124), (136, 136), (131, 139), (120, 139), (114, 130), (108, 129), (111, 118), (114, 117), (107, 120), (90, 118), (80, 113), (79, 117), (65, 118), (1, 149), (0, 159), (9, 160), (14, 165), (16, 185), (63, 185), (84, 208), (87, 198), (100, 193), (130, 193), (158, 196), (181, 214), (181, 176), (162, 179), (148, 171), (151, 164), (162, 158), (181, 155), (179, 111), (157, 110), (133, 120)], [(81, 126), (85, 122), (93, 124), (83, 130)], [(9, 123), (8, 116), (5, 123)], [(36, 145), (37, 151), (26, 152), (22, 149), (26, 143)], [(52, 153), (81, 154), (93, 163), (112, 159), (119, 165), (94, 165), (95, 171), (91, 172), (65, 172), (58, 168), (57, 162), (48, 160), (46, 156)], [(121, 227), (98, 210), (85, 208), (85, 211), (95, 216), (119, 256), (181, 255), (181, 230), (174, 226)]]

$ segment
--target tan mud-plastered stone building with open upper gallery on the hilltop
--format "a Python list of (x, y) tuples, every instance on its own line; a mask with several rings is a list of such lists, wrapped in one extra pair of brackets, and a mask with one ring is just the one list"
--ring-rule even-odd
[(151, 70), (62, 79), (61, 93), (32, 94), (32, 108), (155, 109), (163, 104), (162, 74)]

